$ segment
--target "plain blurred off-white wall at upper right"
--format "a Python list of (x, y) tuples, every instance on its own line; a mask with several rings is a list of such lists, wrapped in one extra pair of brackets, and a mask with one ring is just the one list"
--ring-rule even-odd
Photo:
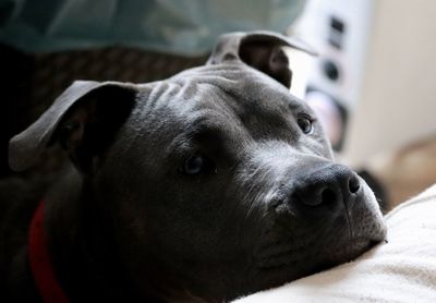
[(343, 153), (352, 165), (436, 135), (436, 1), (378, 0), (374, 9)]

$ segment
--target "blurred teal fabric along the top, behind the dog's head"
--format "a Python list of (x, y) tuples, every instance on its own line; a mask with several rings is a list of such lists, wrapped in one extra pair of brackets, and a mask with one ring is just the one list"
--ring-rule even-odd
[(197, 56), (226, 32), (284, 32), (305, 0), (0, 0), (0, 41), (25, 52), (113, 45)]

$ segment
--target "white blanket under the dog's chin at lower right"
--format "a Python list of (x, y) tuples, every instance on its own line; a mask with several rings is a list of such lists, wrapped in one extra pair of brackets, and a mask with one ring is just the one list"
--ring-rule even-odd
[(436, 184), (386, 222), (388, 243), (356, 260), (235, 302), (436, 302)]

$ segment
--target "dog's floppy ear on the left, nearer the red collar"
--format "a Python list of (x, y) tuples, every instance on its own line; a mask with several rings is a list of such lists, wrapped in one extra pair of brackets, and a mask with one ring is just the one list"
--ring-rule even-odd
[(135, 96), (131, 84), (74, 82), (36, 122), (10, 141), (10, 167), (22, 171), (47, 146), (60, 142), (75, 166), (86, 172), (128, 118)]

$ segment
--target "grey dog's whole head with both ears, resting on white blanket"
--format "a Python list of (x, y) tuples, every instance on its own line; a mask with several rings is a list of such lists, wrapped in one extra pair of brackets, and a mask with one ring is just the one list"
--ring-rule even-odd
[(385, 238), (382, 214), (289, 93), (281, 46), (308, 51), (237, 33), (166, 81), (75, 82), (11, 141), (11, 166), (60, 142), (113, 213), (138, 290), (228, 300), (350, 260)]

